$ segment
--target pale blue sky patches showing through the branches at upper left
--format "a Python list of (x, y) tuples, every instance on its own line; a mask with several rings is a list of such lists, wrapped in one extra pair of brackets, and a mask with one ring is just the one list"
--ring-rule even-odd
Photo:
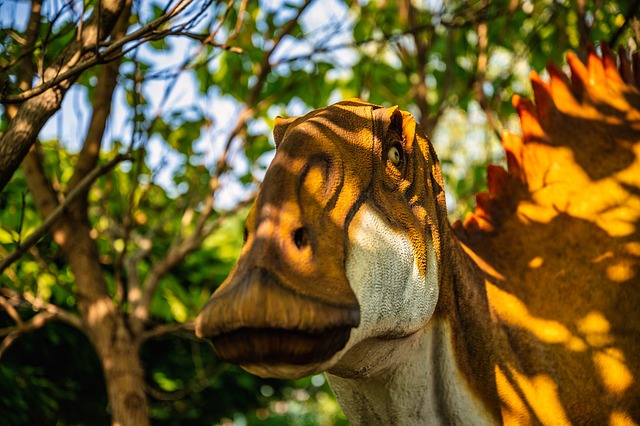
[[(263, 8), (276, 10), (283, 3), (282, 0), (261, 1)], [(57, 2), (45, 2), (44, 13), (54, 13), (52, 7), (61, 7)], [(77, 3), (76, 3), (77, 4)], [(150, 2), (141, 2), (149, 9), (145, 10), (140, 6), (139, 14), (144, 22), (149, 19), (151, 13)], [(0, 26), (14, 26), (24, 28), (28, 16), (27, 2), (0, 0)], [(283, 13), (282, 19), (288, 16)], [(338, 0), (323, 0), (313, 2), (301, 17), (301, 24), (306, 33), (322, 38), (323, 28), (331, 23), (341, 22), (344, 29), (349, 27), (349, 14), (344, 4)], [(313, 37), (311, 38), (313, 40)], [(344, 35), (332, 38), (332, 43), (344, 43), (350, 40), (348, 31)], [(185, 60), (197, 51), (197, 46), (183, 38), (173, 37), (169, 39), (170, 49), (166, 52), (153, 50), (148, 46), (142, 46), (136, 55), (145, 62), (150, 63), (155, 69), (178, 68)], [(274, 52), (273, 63), (279, 62), (285, 57), (302, 55), (312, 49), (310, 44), (295, 41), (293, 38), (283, 40), (279, 48)], [(342, 61), (349, 64), (353, 61), (349, 58), (349, 52), (339, 53), (343, 55)], [(212, 61), (210, 68), (215, 67), (216, 61)], [(125, 65), (130, 67), (131, 64)], [(212, 69), (212, 72), (214, 69)], [(169, 114), (171, 111), (183, 110), (191, 107), (198, 107), (202, 111), (210, 114), (214, 126), (204, 131), (196, 145), (202, 151), (206, 164), (212, 165), (219, 157), (228, 135), (235, 125), (235, 119), (241, 109), (241, 105), (236, 101), (220, 96), (216, 90), (210, 90), (208, 94), (197, 91), (197, 81), (193, 73), (183, 72), (178, 77), (174, 89), (169, 97), (162, 103), (163, 94), (167, 86), (167, 81), (148, 81), (143, 87), (143, 95), (150, 104), (150, 111), (161, 115)], [(339, 99), (335, 99), (337, 101)], [(289, 115), (300, 115), (307, 112), (309, 108), (301, 102), (292, 102), (287, 113)], [(275, 116), (277, 112), (273, 112)], [(68, 91), (63, 101), (60, 111), (58, 111), (44, 126), (40, 133), (41, 140), (58, 139), (71, 151), (78, 151), (82, 146), (84, 135), (88, 127), (88, 120), (91, 115), (90, 104), (88, 102), (86, 88), (75, 85)], [(271, 117), (274, 118), (274, 117)], [(253, 123), (254, 131), (263, 130), (270, 133), (265, 123)], [(261, 128), (262, 127), (262, 128)], [(122, 86), (118, 86), (114, 93), (113, 108), (105, 134), (105, 146), (108, 148), (109, 142), (120, 140), (129, 143), (132, 136), (132, 111), (125, 100), (125, 91)], [(184, 188), (176, 188), (172, 181), (175, 170), (180, 167), (184, 158), (173, 151), (159, 137), (151, 137), (147, 144), (148, 159), (147, 164), (152, 170), (155, 169), (156, 182), (168, 189), (170, 192), (181, 192)], [(272, 153), (265, 155), (261, 159), (261, 167), (264, 168), (271, 158)], [(250, 165), (243, 156), (236, 152), (233, 156), (233, 166), (236, 173), (245, 173)], [(124, 167), (127, 167), (124, 165)], [(258, 170), (260, 174), (260, 170)], [(260, 177), (260, 176), (258, 176)], [(218, 203), (223, 208), (232, 207), (235, 202), (246, 196), (246, 191), (234, 179), (227, 176), (223, 185)]]

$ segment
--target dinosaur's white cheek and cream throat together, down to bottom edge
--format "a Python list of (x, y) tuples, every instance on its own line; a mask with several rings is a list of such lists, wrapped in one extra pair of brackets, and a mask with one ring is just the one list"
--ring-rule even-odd
[(365, 203), (353, 223), (346, 268), (360, 304), (360, 326), (327, 373), (349, 420), (355, 425), (492, 424), (457, 367), (448, 323), (431, 320), (438, 301), (431, 236), (422, 275), (416, 246), (376, 210)]

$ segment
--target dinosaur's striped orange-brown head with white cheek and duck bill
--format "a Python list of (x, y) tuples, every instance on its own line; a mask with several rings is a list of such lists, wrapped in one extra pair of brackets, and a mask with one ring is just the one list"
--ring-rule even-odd
[[(196, 334), (261, 376), (366, 374), (436, 305), (435, 154), (410, 114), (359, 100), (278, 119), (274, 136), (240, 259)], [(367, 345), (379, 356), (360, 359)]]

